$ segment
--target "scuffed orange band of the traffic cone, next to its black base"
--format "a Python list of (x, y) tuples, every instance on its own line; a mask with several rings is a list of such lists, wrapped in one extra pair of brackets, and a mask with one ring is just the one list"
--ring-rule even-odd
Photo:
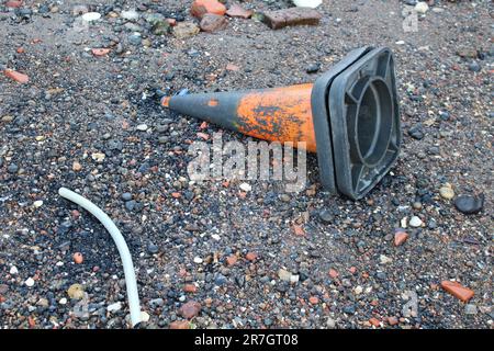
[(306, 143), (305, 149), (316, 151), (311, 110), (313, 84), (274, 88), (246, 94), (239, 102), (237, 115), (243, 122), (238, 132), (270, 140)]

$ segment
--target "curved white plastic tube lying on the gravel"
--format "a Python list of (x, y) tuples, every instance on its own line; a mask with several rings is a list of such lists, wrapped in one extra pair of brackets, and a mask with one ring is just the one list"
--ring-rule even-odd
[(124, 269), (125, 285), (127, 286), (128, 308), (131, 309), (131, 321), (132, 326), (134, 327), (135, 325), (141, 322), (139, 295), (137, 292), (137, 281), (135, 279), (135, 271), (134, 264), (132, 263), (131, 251), (128, 251), (127, 244), (125, 242), (122, 233), (120, 233), (119, 228), (116, 228), (112, 219), (110, 219), (110, 217), (103, 211), (101, 211), (100, 207), (94, 205), (86, 197), (82, 197), (81, 195), (66, 188), (60, 188), (58, 190), (58, 194), (61, 197), (65, 197), (78, 204), (79, 206), (91, 213), (94, 217), (97, 217), (98, 220), (100, 220), (101, 224), (110, 233), (113, 241), (115, 241), (116, 249), (119, 250)]

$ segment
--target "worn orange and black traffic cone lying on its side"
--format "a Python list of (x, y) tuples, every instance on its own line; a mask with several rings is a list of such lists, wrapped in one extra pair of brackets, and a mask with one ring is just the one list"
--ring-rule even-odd
[(305, 141), (317, 152), (323, 185), (353, 200), (384, 177), (401, 146), (389, 48), (356, 49), (314, 84), (165, 97), (161, 104), (256, 138)]

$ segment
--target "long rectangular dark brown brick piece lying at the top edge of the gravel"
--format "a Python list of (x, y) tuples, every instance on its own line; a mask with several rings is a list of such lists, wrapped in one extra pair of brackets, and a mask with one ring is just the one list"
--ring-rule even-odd
[(265, 12), (263, 22), (272, 30), (290, 25), (317, 25), (322, 15), (310, 8), (290, 8)]

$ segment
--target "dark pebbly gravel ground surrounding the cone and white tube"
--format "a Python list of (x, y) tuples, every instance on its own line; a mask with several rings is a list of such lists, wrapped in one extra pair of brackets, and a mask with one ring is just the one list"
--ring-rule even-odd
[[(0, 5), (0, 67), (30, 77), (0, 77), (1, 327), (127, 326), (116, 248), (57, 195), (67, 186), (125, 237), (145, 328), (186, 318), (197, 328), (492, 328), (491, 1), (440, 1), (418, 32), (403, 31), (404, 1), (326, 1), (316, 26), (274, 31), (255, 15), (213, 34), (198, 33), (184, 0), (116, 0), (77, 14), (70, 2), (53, 12), (45, 2), (45, 13), (24, 3), (30, 11)], [(289, 1), (242, 4), (260, 12)], [(122, 19), (133, 9), (138, 19)], [(101, 18), (80, 21), (85, 12)], [(156, 35), (150, 14), (179, 25)], [(161, 94), (313, 82), (364, 44), (394, 53), (404, 132), (396, 166), (364, 200), (328, 196), (314, 155), (306, 189), (289, 197), (274, 181), (190, 181), (191, 141), (201, 133), (211, 143), (220, 127), (162, 109)], [(250, 138), (224, 131), (223, 139)], [(451, 201), (439, 194), (446, 183)], [(395, 229), (414, 216), (420, 225), (404, 227), (408, 239), (395, 247)], [(476, 314), (444, 280), (475, 292)]]

